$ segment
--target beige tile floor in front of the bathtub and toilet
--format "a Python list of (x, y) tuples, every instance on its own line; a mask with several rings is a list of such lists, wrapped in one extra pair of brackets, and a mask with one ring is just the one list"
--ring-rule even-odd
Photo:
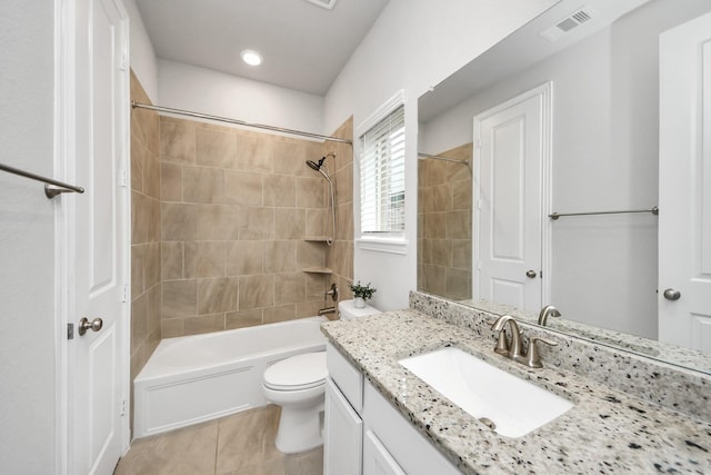
[(277, 451), (279, 410), (259, 407), (134, 441), (114, 475), (322, 475), (323, 447)]

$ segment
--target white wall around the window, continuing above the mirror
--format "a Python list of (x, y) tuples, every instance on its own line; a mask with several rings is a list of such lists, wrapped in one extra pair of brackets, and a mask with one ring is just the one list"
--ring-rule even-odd
[[(326, 97), (324, 128), (353, 115), (358, 127), (398, 90), (405, 102), (404, 256), (356, 247), (354, 278), (378, 288), (380, 309), (408, 306), (417, 286), (417, 99), (554, 0), (390, 0)], [(356, 150), (358, 151), (358, 150)], [(358, 168), (358, 156), (354, 155)], [(356, 228), (359, 181), (354, 170)], [(358, 237), (358, 236), (357, 236)]]

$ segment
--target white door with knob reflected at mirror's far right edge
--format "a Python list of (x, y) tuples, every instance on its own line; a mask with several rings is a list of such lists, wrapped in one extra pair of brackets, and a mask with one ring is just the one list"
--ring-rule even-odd
[(659, 339), (711, 353), (711, 14), (660, 36)]

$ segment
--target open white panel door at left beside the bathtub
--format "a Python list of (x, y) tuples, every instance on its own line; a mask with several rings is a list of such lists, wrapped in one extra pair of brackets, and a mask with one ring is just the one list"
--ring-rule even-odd
[[(111, 474), (128, 444), (128, 21), (119, 0), (76, 2), (74, 265), (70, 472)], [(81, 319), (102, 323), (80, 335)]]

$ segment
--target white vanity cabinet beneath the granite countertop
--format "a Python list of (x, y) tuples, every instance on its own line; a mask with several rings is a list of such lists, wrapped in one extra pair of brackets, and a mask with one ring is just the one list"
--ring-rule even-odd
[(324, 475), (457, 475), (331, 344), (327, 345)]

